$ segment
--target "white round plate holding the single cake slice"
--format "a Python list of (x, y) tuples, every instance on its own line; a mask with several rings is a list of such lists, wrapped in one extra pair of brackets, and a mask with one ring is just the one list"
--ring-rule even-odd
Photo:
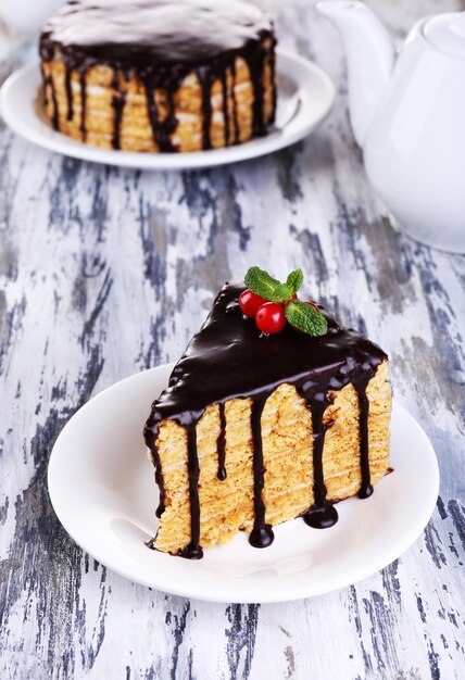
[(391, 465), (364, 501), (338, 504), (339, 521), (311, 529), (302, 519), (275, 527), (275, 541), (252, 547), (240, 532), (206, 547), (198, 562), (149, 550), (159, 494), (142, 428), (172, 365), (101, 392), (67, 423), (53, 448), (50, 498), (70, 536), (113, 571), (158, 590), (214, 602), (281, 602), (354, 583), (399, 557), (435, 509), (439, 471), (414, 418), (393, 404)]

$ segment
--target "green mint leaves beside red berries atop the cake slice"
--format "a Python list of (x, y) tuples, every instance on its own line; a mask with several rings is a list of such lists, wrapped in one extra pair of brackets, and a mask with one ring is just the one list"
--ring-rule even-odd
[(281, 284), (264, 269), (250, 267), (244, 284), (255, 295), (282, 304), (287, 322), (298, 330), (310, 336), (325, 336), (328, 332), (328, 322), (316, 305), (292, 300), (303, 284), (302, 269), (291, 272), (286, 284)]

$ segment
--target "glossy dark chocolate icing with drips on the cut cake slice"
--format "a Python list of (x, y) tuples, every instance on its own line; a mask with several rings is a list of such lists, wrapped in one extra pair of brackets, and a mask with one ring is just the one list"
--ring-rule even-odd
[[(226, 284), (216, 298), (212, 312), (201, 330), (193, 336), (186, 352), (176, 364), (169, 383), (153, 403), (146, 424), (144, 437), (153, 454), (158, 477), (162, 478), (156, 453), (159, 425), (173, 419), (188, 430), (189, 440), (189, 496), (191, 507), (191, 542), (184, 556), (201, 556), (199, 544), (200, 507), (197, 490), (198, 459), (191, 442), (191, 431), (212, 404), (224, 404), (230, 399), (252, 399), (254, 527), (250, 542), (264, 547), (273, 542), (273, 530), (265, 524), (265, 505), (262, 499), (264, 467), (261, 438), (261, 414), (266, 399), (279, 385), (296, 386), (312, 414), (314, 469), (314, 506), (304, 514), (312, 527), (332, 526), (337, 511), (326, 498), (323, 475), (323, 448), (326, 430), (324, 414), (332, 403), (334, 392), (352, 383), (360, 404), (360, 456), (362, 483), (360, 498), (373, 492), (368, 463), (368, 412), (366, 388), (378, 366), (387, 360), (385, 352), (351, 328), (341, 328), (336, 319), (322, 310), (328, 322), (325, 336), (313, 337), (287, 325), (274, 336), (263, 336), (254, 319), (244, 318), (238, 299), (243, 286)], [(226, 420), (221, 420), (225, 437)], [(224, 452), (218, 446), (218, 470), (226, 469)], [(227, 462), (226, 462), (227, 465)], [(191, 468), (193, 474), (191, 474)], [(219, 477), (219, 475), (218, 475)], [(221, 477), (219, 477), (221, 478)], [(163, 506), (163, 486), (161, 484)]]

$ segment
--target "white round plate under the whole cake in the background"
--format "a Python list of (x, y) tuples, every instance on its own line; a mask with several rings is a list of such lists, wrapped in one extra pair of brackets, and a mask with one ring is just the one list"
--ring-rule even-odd
[(41, 115), (37, 101), (41, 86), (38, 63), (24, 66), (8, 78), (0, 91), (0, 110), (4, 122), (25, 139), (75, 159), (151, 169), (210, 167), (254, 159), (293, 144), (314, 130), (329, 113), (335, 87), (318, 66), (297, 54), (278, 50), (276, 73), (276, 125), (266, 137), (228, 149), (192, 153), (136, 153), (99, 149), (56, 133)]

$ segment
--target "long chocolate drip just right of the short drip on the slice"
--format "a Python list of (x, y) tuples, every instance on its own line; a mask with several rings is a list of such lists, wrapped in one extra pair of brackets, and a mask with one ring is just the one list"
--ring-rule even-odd
[(265, 524), (265, 504), (262, 498), (265, 468), (263, 465), (262, 446), (262, 413), (267, 394), (255, 396), (252, 401), (252, 441), (253, 441), (253, 509), (255, 519), (249, 537), (254, 547), (266, 547), (275, 539), (271, 525)]

